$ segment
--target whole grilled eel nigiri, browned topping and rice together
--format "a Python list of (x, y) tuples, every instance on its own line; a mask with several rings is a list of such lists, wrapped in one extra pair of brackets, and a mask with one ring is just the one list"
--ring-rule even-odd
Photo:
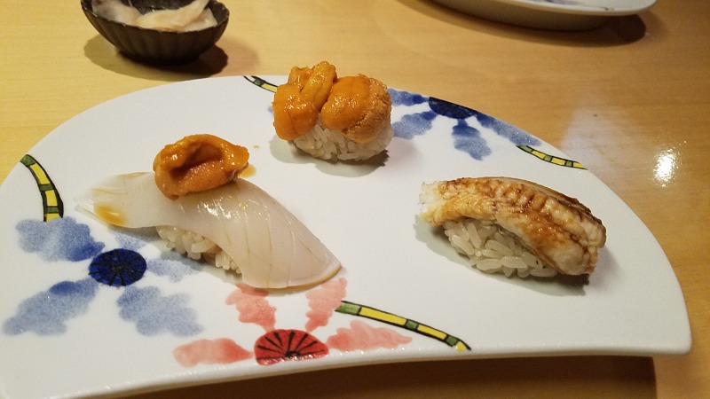
[(422, 184), (420, 216), (487, 273), (519, 277), (595, 270), (606, 229), (580, 201), (509, 177)]

